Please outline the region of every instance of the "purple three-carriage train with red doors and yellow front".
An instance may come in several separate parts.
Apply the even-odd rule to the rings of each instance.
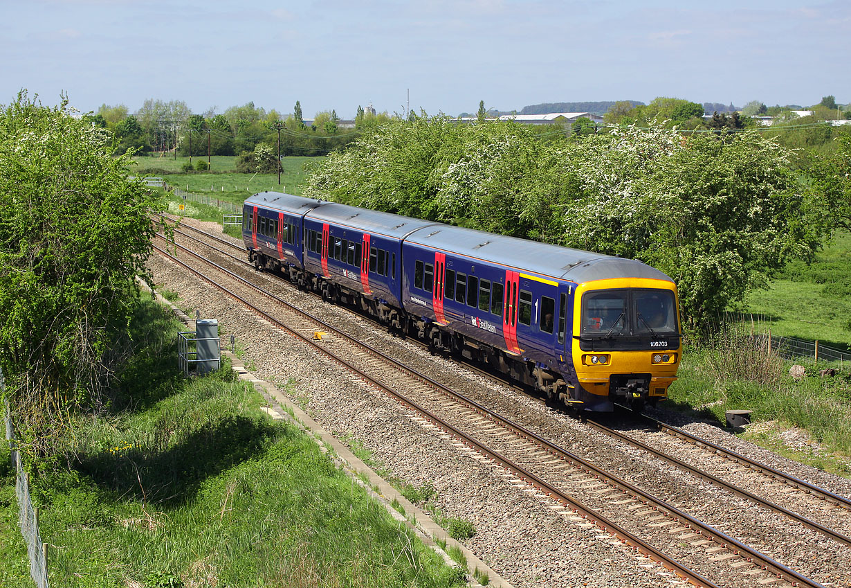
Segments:
[[[277,192],[245,200],[242,234],[257,270],[576,412],[677,379],[677,287],[643,262]]]

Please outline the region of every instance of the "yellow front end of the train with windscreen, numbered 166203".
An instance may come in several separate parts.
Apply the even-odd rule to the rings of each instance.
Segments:
[[[594,280],[576,288],[570,395],[577,407],[641,410],[667,398],[683,350],[677,287],[669,280]]]

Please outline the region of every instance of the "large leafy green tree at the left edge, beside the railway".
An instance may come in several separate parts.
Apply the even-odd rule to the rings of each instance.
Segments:
[[[0,367],[34,453],[100,402],[127,337],[162,202],[106,130],[22,91],[0,107]]]

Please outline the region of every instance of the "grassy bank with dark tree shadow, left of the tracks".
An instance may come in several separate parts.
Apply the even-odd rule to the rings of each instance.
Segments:
[[[230,370],[184,381],[163,308],[144,303],[134,325],[110,411],[79,418],[33,476],[52,585],[463,584]],[[0,585],[31,585],[8,447],[0,482]]]

